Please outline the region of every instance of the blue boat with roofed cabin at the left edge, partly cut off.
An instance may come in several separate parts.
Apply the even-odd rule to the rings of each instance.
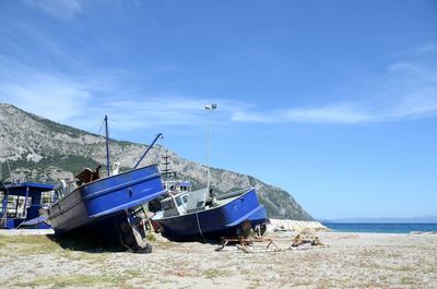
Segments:
[[[0,186],[0,228],[49,229],[39,215],[44,203],[49,204],[51,184],[22,182]],[[46,200],[44,200],[46,198]]]

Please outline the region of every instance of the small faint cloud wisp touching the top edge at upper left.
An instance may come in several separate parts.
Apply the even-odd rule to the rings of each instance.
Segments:
[[[51,16],[68,20],[74,19],[84,8],[84,2],[81,0],[22,0],[22,2]]]

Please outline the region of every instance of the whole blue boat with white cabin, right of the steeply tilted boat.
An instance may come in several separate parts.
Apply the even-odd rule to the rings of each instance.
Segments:
[[[177,192],[161,201],[162,210],[152,220],[163,227],[170,240],[209,239],[244,234],[269,221],[255,188],[213,196],[208,189]]]

